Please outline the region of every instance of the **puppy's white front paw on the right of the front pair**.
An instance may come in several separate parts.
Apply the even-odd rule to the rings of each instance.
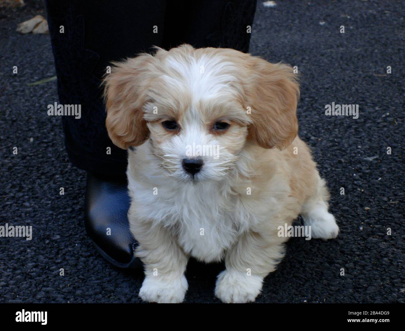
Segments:
[[[262,289],[263,278],[245,272],[224,270],[218,275],[215,296],[225,303],[254,301]]]

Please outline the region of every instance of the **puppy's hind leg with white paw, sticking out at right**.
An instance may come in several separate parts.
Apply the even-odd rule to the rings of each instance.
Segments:
[[[313,197],[304,204],[301,216],[304,224],[311,226],[311,237],[321,239],[336,238],[339,227],[335,217],[328,212],[328,191],[325,181],[318,176],[318,187]]]

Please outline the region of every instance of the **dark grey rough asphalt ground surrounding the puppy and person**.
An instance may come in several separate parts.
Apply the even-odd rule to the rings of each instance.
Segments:
[[[41,2],[26,2],[0,14],[0,225],[32,225],[33,238],[0,238],[0,303],[140,302],[142,271],[109,265],[84,231],[85,172],[68,161],[60,119],[47,116],[56,82],[27,86],[55,69],[49,35],[15,32],[45,15]],[[299,135],[328,182],[341,233],[291,239],[257,302],[405,302],[404,6],[258,2],[251,52],[298,66]],[[325,116],[332,102],[358,104],[358,119]],[[185,302],[220,302],[213,290],[222,269],[191,260]]]

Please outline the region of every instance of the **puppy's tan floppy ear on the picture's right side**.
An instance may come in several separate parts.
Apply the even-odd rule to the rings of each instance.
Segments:
[[[298,79],[290,66],[271,64],[258,57],[253,59],[252,69],[249,138],[263,148],[282,150],[298,133]]]

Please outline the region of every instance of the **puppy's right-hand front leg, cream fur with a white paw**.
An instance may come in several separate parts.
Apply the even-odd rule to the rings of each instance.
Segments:
[[[217,277],[215,296],[225,303],[254,301],[262,290],[264,277],[283,258],[284,238],[247,233],[228,251],[226,270]]]

